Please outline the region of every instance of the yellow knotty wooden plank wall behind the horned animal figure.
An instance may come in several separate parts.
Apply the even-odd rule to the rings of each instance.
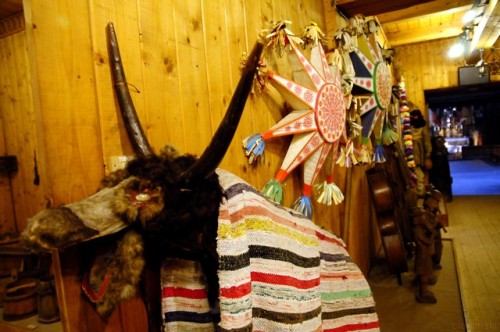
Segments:
[[[2,61],[7,75],[0,83],[15,89],[0,96],[0,152],[17,155],[21,165],[14,179],[17,215],[11,224],[22,230],[26,219],[46,205],[94,193],[113,158],[132,154],[112,90],[108,22],[115,25],[132,98],[153,148],[159,151],[169,143],[181,152],[201,154],[239,79],[241,56],[261,30],[287,19],[293,22],[290,29],[301,34],[314,21],[324,31],[328,25],[331,39],[343,22],[331,15],[331,6],[324,0],[25,0],[26,29],[0,40],[2,60],[10,58]],[[286,58],[266,56],[280,74],[290,75]],[[22,103],[12,103],[11,97]],[[272,88],[252,95],[221,167],[257,188],[274,177],[289,138],[269,142],[258,167],[248,165],[241,140],[268,129],[284,112],[284,101]],[[38,185],[33,183],[35,166]],[[300,194],[300,178],[296,171],[285,182],[284,205]],[[339,169],[337,184],[349,203],[315,205],[315,222],[343,236],[353,260],[367,272],[374,230],[364,167]],[[0,194],[8,193],[2,189]],[[144,308],[137,298],[121,305],[107,323],[84,301],[75,301],[79,254],[70,249],[55,257],[63,271],[58,295],[65,329],[140,330]]]

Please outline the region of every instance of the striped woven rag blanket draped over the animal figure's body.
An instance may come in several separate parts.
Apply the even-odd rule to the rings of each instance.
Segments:
[[[370,287],[345,244],[295,211],[218,170],[220,323],[196,262],[168,260],[162,306],[168,331],[378,331]]]

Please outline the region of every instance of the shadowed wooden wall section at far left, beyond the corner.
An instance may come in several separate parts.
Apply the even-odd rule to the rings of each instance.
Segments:
[[[42,183],[34,184],[35,166],[43,160],[39,151],[36,124],[31,94],[31,73],[27,55],[26,34],[24,31],[0,39],[1,75],[0,107],[2,117],[2,155],[15,155],[18,160],[18,171],[9,180],[1,176],[2,222],[8,232],[21,231],[26,226],[26,219],[44,207],[45,198]],[[35,165],[35,155],[37,164]],[[40,171],[40,170],[39,170]],[[40,174],[40,173],[39,173]],[[42,182],[46,182],[43,179]],[[11,188],[9,188],[11,186]],[[5,191],[4,191],[5,190]],[[11,198],[13,204],[10,204]],[[15,208],[14,208],[15,206]]]

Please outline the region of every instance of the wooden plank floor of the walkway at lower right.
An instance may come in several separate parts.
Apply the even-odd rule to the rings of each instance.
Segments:
[[[447,209],[467,331],[500,331],[500,196],[454,196]]]

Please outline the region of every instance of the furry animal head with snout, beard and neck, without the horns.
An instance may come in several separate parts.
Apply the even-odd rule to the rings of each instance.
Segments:
[[[96,194],[31,218],[23,241],[32,250],[63,249],[133,226],[140,234],[126,232],[116,249],[95,260],[84,283],[86,295],[100,314],[109,315],[118,301],[135,295],[130,288],[138,286],[143,253],[153,266],[160,266],[166,257],[198,260],[213,304],[218,293],[215,245],[223,193],[216,173],[180,186],[179,175],[196,160],[193,155],[179,156],[171,146],[158,156],[138,157],[106,177]],[[110,279],[102,291],[106,295],[99,295],[106,278]]]

